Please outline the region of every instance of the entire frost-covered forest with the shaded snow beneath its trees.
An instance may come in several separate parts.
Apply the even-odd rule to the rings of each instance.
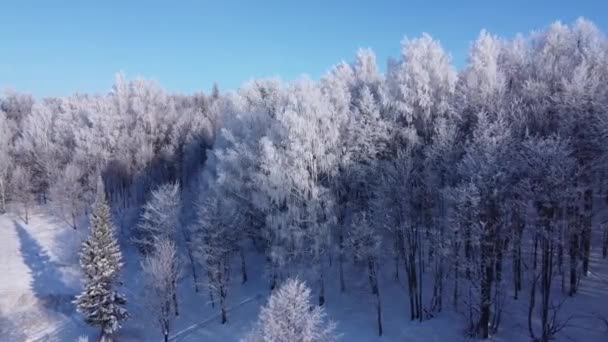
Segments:
[[[468,51],[457,70],[423,34],[385,73],[360,49],[234,92],[4,93],[0,228],[44,211],[74,236],[63,305],[91,328],[28,339],[1,300],[0,340],[607,340],[608,40],[579,19]],[[175,335],[203,310],[233,335]]]

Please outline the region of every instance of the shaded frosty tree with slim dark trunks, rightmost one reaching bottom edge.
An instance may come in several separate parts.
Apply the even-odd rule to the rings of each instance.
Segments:
[[[563,328],[558,317],[560,299],[552,294],[556,270],[561,270],[564,235],[561,222],[567,199],[571,196],[570,180],[575,160],[569,142],[559,137],[528,139],[523,143],[522,158],[529,168],[527,194],[534,203],[538,223],[532,233],[528,328],[530,337],[547,342]],[[560,271],[561,272],[561,271]],[[562,278],[563,279],[563,278]],[[563,284],[563,283],[562,283]],[[540,293],[536,302],[537,291]],[[538,307],[537,307],[538,306]],[[541,332],[534,332],[533,312],[538,309]],[[539,336],[540,335],[540,336]]]

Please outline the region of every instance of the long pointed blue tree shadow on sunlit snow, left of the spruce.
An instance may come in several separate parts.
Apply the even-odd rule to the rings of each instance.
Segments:
[[[31,288],[42,305],[63,314],[74,311],[73,291],[63,281],[61,265],[51,260],[49,254],[17,221],[13,221],[19,236],[23,262],[30,269]]]

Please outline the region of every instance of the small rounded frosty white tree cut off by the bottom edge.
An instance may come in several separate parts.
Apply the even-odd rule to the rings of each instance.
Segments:
[[[310,289],[298,279],[288,279],[262,307],[258,322],[244,342],[336,341],[335,325],[322,307],[311,302]]]

